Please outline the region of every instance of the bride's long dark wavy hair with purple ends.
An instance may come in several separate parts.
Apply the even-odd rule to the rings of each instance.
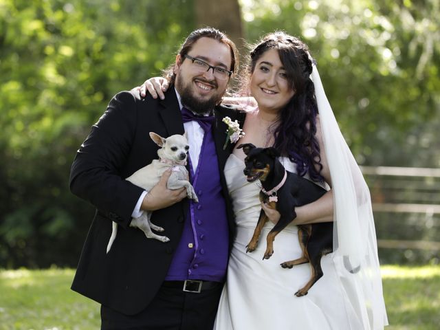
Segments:
[[[278,51],[289,87],[295,91],[276,122],[274,147],[296,163],[298,175],[303,176],[308,172],[314,181],[322,181],[320,148],[315,137],[318,106],[314,83],[309,78],[312,69],[309,49],[303,41],[285,32],[277,31],[263,36],[252,47],[248,58],[247,74],[241,85],[246,91],[257,61],[267,50]]]

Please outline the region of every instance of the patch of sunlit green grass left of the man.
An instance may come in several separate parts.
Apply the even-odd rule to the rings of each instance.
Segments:
[[[100,305],[73,292],[73,278],[74,270],[0,271],[0,329],[99,329]]]

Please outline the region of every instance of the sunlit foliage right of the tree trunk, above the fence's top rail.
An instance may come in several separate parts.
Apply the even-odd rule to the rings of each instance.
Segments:
[[[440,165],[438,1],[242,3],[249,41],[278,28],[309,45],[361,164]]]

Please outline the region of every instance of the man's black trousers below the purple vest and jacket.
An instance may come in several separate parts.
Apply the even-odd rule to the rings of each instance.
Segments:
[[[199,294],[162,285],[144,311],[124,315],[101,306],[102,330],[212,330],[223,284]]]

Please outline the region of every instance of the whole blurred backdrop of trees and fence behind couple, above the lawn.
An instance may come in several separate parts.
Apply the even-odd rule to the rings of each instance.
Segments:
[[[381,262],[437,264],[440,175],[375,169],[440,165],[439,15],[434,0],[0,0],[0,268],[76,267],[94,213],[68,190],[76,149],[203,25],[243,54],[274,30],[308,43],[375,205],[395,205],[375,210]]]

